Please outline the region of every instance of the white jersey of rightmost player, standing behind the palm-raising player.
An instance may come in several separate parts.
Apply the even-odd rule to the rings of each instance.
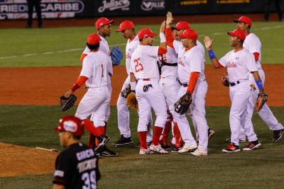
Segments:
[[[250,33],[249,35],[246,35],[246,40],[244,40],[243,46],[251,53],[259,53],[258,61],[256,61],[256,67],[261,69],[261,40],[259,40],[256,34]]]

